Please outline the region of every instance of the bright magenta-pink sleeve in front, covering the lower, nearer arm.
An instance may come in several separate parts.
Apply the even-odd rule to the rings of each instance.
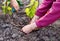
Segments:
[[[60,2],[54,2],[50,11],[36,21],[38,27],[45,27],[60,18]]]

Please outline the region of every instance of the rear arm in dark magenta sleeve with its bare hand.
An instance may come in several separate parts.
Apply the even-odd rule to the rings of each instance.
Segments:
[[[36,11],[36,15],[33,17],[31,23],[36,22],[36,20],[39,19],[39,17],[42,17],[45,15],[45,13],[49,10],[53,3],[53,0],[44,0],[43,3],[38,7]]]

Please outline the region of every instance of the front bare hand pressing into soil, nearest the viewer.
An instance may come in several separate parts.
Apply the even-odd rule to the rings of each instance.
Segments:
[[[32,32],[33,30],[35,30],[37,28],[35,23],[31,23],[29,25],[26,25],[22,28],[22,31],[26,34]]]

